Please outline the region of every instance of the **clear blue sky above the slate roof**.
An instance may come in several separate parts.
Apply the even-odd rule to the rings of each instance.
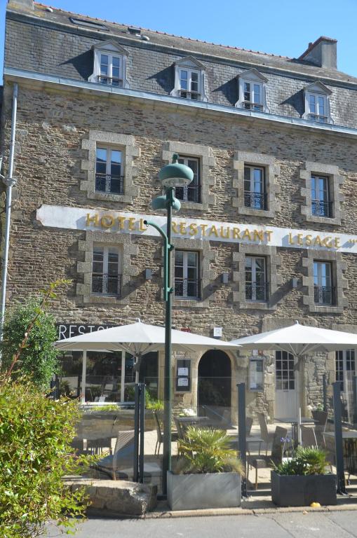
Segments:
[[[4,14],[0,0],[0,65]],[[357,0],[51,0],[74,13],[266,53],[298,57],[319,36],[338,40],[340,71],[357,76]],[[220,6],[217,10],[217,6]],[[245,6],[247,6],[245,8]]]

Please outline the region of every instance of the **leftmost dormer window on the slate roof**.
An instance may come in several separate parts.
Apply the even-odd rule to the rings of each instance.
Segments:
[[[117,88],[129,88],[126,78],[127,52],[114,41],[104,41],[93,46],[93,74],[88,81],[110,85]]]

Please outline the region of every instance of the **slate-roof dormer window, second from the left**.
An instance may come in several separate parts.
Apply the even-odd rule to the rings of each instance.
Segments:
[[[175,63],[175,88],[171,95],[194,101],[208,100],[205,93],[205,67],[201,62],[189,56]]]

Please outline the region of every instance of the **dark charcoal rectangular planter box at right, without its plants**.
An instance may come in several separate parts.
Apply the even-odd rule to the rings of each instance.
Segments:
[[[271,499],[278,506],[309,506],[319,502],[324,506],[337,504],[336,475],[279,475],[271,471]]]

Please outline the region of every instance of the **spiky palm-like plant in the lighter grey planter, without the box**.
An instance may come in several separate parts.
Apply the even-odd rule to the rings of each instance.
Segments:
[[[189,426],[183,439],[178,441],[181,459],[179,473],[223,473],[235,471],[243,474],[243,465],[236,450],[229,448],[230,439],[221,429]]]

